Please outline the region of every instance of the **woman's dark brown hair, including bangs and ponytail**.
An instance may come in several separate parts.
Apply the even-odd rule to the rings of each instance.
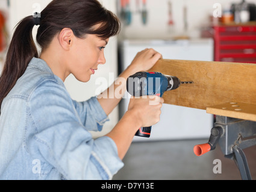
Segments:
[[[72,29],[78,38],[95,34],[107,39],[120,31],[119,19],[97,0],[54,0],[36,16],[40,16],[36,40],[42,51],[63,28]],[[38,58],[32,35],[33,27],[37,24],[34,17],[35,15],[22,19],[14,31],[0,77],[0,106],[17,79],[25,73],[31,59]],[[94,28],[97,24],[101,25]]]

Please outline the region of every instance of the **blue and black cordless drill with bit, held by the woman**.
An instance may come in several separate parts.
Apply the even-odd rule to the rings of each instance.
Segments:
[[[178,77],[167,76],[159,72],[142,71],[128,77],[126,89],[129,94],[135,97],[142,97],[143,95],[157,95],[163,97],[164,91],[177,89],[181,84],[190,83],[193,82],[181,82]],[[135,135],[150,137],[151,127],[141,127]]]

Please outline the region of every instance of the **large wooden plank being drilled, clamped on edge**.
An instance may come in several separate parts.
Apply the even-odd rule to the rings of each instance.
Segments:
[[[230,102],[256,104],[256,64],[160,59],[149,71],[194,82],[164,92],[164,103],[204,110]]]

